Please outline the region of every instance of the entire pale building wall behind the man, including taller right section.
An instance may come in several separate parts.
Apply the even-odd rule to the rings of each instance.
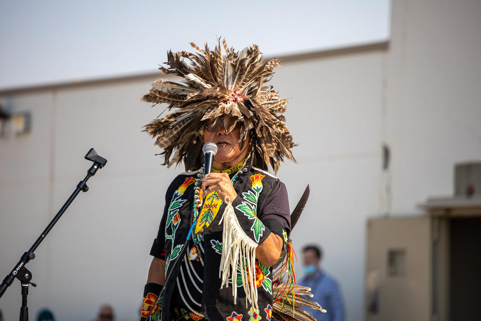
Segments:
[[[370,318],[368,218],[422,214],[417,204],[428,197],[452,195],[455,163],[481,159],[480,13],[479,1],[393,1],[388,41],[283,57],[276,71],[273,85],[292,98],[286,116],[299,143],[297,164],[284,164],[278,176],[291,206],[311,186],[294,245],[298,255],[307,242],[323,246],[348,321]],[[109,161],[29,263],[38,284],[30,290],[32,314],[47,306],[58,320],[91,320],[100,304],[111,303],[118,320],[135,320],[164,193],[182,171],[160,166],[158,148],[141,132],[161,112],[140,102],[158,77],[0,92],[7,111],[31,114],[31,130],[21,135],[2,121],[0,275],[83,178],[88,149]],[[383,144],[391,151],[385,170]],[[417,228],[429,230],[426,221],[419,218]],[[5,320],[17,317],[19,288],[16,281],[0,300]],[[416,320],[431,320],[429,301],[416,302],[428,309]],[[400,320],[394,308],[380,308],[385,317],[377,320]]]

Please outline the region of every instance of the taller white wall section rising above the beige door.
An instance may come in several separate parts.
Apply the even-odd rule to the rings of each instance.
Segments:
[[[454,164],[481,159],[481,1],[392,1],[385,141],[392,210],[452,195]]]

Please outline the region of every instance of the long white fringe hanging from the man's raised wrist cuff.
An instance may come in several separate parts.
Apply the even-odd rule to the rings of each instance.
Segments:
[[[245,291],[245,303],[248,301],[256,309],[257,306],[257,287],[256,287],[256,247],[257,243],[252,241],[240,227],[237,216],[229,201],[229,197],[225,197],[226,207],[219,224],[224,222],[224,231],[222,235],[222,257],[219,267],[219,277],[222,277],[221,289],[229,287],[229,277],[232,271],[232,295],[234,296],[234,304],[237,299],[237,266],[245,261],[251,274],[251,284],[247,280],[246,269],[240,269],[242,277],[242,286]]]

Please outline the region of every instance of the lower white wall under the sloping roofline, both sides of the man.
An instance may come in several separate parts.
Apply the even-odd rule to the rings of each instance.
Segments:
[[[292,238],[299,259],[305,243],[324,246],[324,266],[340,280],[348,320],[363,313],[363,226],[379,208],[384,56],[378,48],[286,59],[273,80],[283,97],[292,98],[288,126],[299,143],[293,150],[298,163],[278,173],[292,209],[305,185],[311,187]],[[108,160],[29,263],[38,284],[30,291],[31,314],[47,306],[59,320],[90,320],[100,304],[111,303],[118,320],[135,318],[164,193],[183,171],[160,166],[154,156],[160,150],[141,132],[164,108],[140,101],[155,78],[0,96],[15,112],[31,111],[33,121],[31,133],[0,140],[1,273],[10,271],[85,176],[89,148]],[[5,319],[15,318],[19,306],[16,281],[0,302]]]

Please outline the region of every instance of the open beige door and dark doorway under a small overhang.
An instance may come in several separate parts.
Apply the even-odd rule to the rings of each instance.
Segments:
[[[368,221],[367,320],[480,320],[481,197],[423,207]]]

